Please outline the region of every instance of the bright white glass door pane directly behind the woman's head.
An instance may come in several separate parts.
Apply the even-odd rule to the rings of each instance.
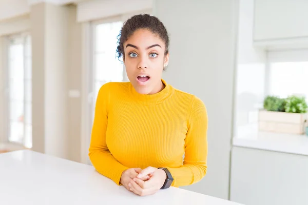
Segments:
[[[124,64],[115,52],[122,26],[122,21],[93,24],[92,119],[101,86],[110,81],[125,80]]]

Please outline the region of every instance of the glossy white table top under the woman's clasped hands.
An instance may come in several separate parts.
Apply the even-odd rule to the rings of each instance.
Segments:
[[[179,189],[140,197],[92,166],[30,150],[0,154],[0,204],[208,204],[238,203]]]

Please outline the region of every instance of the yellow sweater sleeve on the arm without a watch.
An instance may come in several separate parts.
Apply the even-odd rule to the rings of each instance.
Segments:
[[[122,172],[128,169],[123,166],[108,150],[106,130],[108,125],[108,104],[110,99],[109,84],[101,87],[95,104],[89,158],[94,168],[102,175],[120,185]]]

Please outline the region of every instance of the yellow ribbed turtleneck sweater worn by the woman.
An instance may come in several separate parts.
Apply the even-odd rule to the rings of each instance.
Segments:
[[[139,94],[130,82],[107,83],[99,91],[89,157],[118,185],[129,168],[166,167],[174,187],[205,176],[206,108],[196,96],[162,82],[165,88],[152,95]]]

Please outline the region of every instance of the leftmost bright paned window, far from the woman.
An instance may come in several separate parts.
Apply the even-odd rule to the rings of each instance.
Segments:
[[[8,141],[32,148],[31,37],[7,39]]]

